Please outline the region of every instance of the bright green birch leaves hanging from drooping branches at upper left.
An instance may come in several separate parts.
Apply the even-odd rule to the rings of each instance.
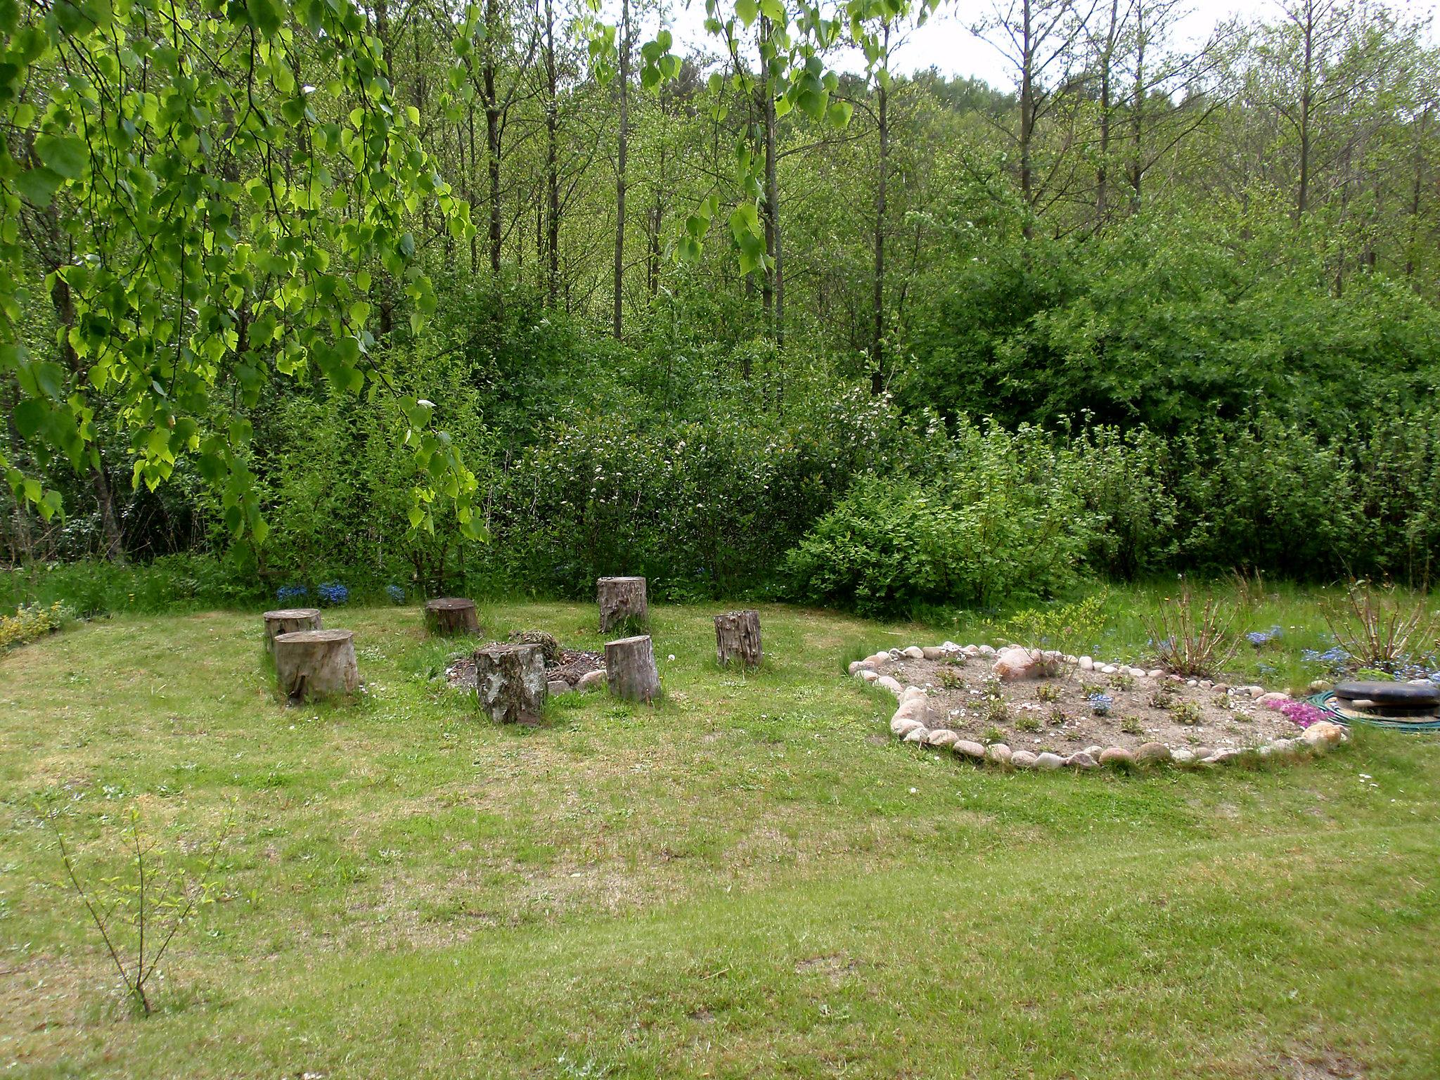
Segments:
[[[265,0],[27,4],[19,27],[16,4],[0,14],[13,32],[0,374],[19,387],[14,428],[36,462],[98,467],[104,402],[134,485],[154,490],[193,459],[226,528],[264,543],[245,409],[275,395],[275,376],[318,374],[396,397],[423,477],[413,524],[444,495],[472,530],[474,477],[431,409],[396,393],[370,327],[372,288],[402,292],[416,325],[433,310],[408,216],[425,204],[464,239],[468,209],[420,145],[418,109],[396,101],[364,13]],[[302,68],[320,85],[300,85]],[[22,220],[63,258],[37,268]],[[42,295],[55,347],[32,357],[22,320]],[[7,458],[0,469],[17,500],[46,518],[59,508],[58,491]]]

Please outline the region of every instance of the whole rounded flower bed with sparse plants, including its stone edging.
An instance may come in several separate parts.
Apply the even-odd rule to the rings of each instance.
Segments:
[[[1018,769],[1201,768],[1349,739],[1323,710],[1264,687],[1018,645],[912,645],[850,672],[896,696],[897,739]]]

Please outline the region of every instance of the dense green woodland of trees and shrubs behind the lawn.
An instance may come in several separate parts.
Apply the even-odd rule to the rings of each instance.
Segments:
[[[4,7],[12,53],[65,14]],[[171,89],[212,79],[269,108],[287,154],[256,166],[264,140],[206,138],[243,132],[223,108],[174,145],[240,187],[262,167],[292,199],[278,220],[343,219],[294,248],[336,256],[330,291],[287,302],[344,295],[341,321],[367,327],[359,395],[338,347],[330,364],[324,344],[292,363],[279,331],[264,348],[251,304],[269,271],[209,328],[184,275],[151,274],[151,343],[219,372],[179,428],[154,420],[179,361],[96,376],[89,336],[125,334],[78,314],[66,268],[98,243],[115,140],[86,134],[88,164],[63,153],[81,46],[52,33],[12,81],[3,239],[32,287],[7,315],[23,353],[6,356],[27,359],[0,364],[10,602],[575,596],[636,573],[661,599],[878,615],[1184,570],[1428,580],[1440,52],[1405,10],[1290,0],[1187,42],[1175,0],[945,9],[1007,60],[1014,82],[991,86],[891,72],[929,29],[894,0],[834,22],[711,3],[691,40],[642,0],[605,20],[564,0],[380,0],[353,9],[348,60],[305,7],[281,75],[209,6],[186,26],[226,48],[166,69]],[[115,85],[158,82],[168,10],[127,6],[86,85],[109,55]],[[327,122],[346,127],[356,50],[409,140],[374,177],[441,193],[372,184],[405,256],[373,272],[346,258],[354,202],[295,194]],[[53,449],[66,408],[84,454]],[[406,452],[432,428],[442,442]]]

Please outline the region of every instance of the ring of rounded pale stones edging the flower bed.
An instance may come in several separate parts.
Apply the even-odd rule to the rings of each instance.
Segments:
[[[1022,647],[1009,647],[1022,648]],[[1136,668],[1129,664],[1097,662],[1090,657],[1071,657],[1064,652],[1025,649],[1037,665],[1064,664],[1080,671],[1097,671],[1100,674],[1123,672],[1132,678],[1171,680],[1187,685],[1207,685],[1210,680],[1184,678],[1171,674],[1164,668]],[[949,729],[929,730],[924,726],[930,708],[930,696],[923,687],[903,687],[891,675],[881,675],[876,671],[877,664],[893,660],[943,660],[946,657],[998,657],[999,649],[992,645],[956,645],[946,641],[942,645],[907,645],[887,652],[876,652],[864,660],[850,664],[850,674],[870,685],[888,690],[899,700],[899,708],[890,717],[890,733],[906,743],[924,746],[936,750],[950,750],[958,757],[968,757],[976,765],[994,765],[1012,769],[1054,770],[1070,768],[1076,770],[1099,769],[1102,766],[1126,768],[1132,765],[1161,765],[1169,763],[1182,769],[1197,769],[1212,765],[1225,765],[1236,760],[1259,760],[1264,757],[1296,757],[1300,753],[1325,753],[1333,746],[1349,742],[1349,732],[1341,724],[1329,720],[1318,720],[1302,729],[1293,739],[1272,739],[1256,747],[1234,749],[1224,747],[1207,757],[1197,757],[1187,749],[1171,749],[1165,743],[1143,743],[1135,750],[1123,746],[1087,746],[1084,750],[1061,757],[1057,753],[1031,753],[1030,750],[1011,750],[1005,743],[978,743],[960,739]],[[1260,685],[1233,687],[1231,693],[1246,693],[1260,704],[1289,701],[1290,696],[1283,691],[1266,691]]]

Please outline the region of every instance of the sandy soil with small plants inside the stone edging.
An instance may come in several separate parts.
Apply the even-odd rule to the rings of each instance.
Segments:
[[[893,658],[876,665],[900,685],[930,697],[926,727],[960,739],[1002,742],[1012,750],[1048,749],[1060,755],[1086,746],[1135,750],[1156,742],[1171,747],[1247,747],[1300,734],[1283,713],[1264,708],[1227,684],[1187,685],[1169,678],[1133,678],[1081,671],[1063,664],[1051,678],[999,683],[986,657]],[[1092,694],[1110,698],[1096,713]]]

